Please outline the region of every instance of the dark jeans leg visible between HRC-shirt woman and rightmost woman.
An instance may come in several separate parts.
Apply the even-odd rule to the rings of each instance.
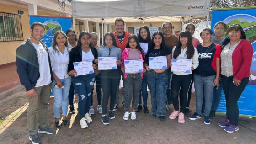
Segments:
[[[222,81],[219,81],[219,85],[214,86],[213,88],[213,102],[212,102],[211,111],[216,112],[219,105],[219,101],[220,101],[221,91],[222,91]]]

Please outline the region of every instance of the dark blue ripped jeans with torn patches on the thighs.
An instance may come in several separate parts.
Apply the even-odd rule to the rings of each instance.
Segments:
[[[78,112],[80,119],[85,117],[85,114],[89,112],[94,81],[94,74],[79,75],[77,77],[72,76],[72,83],[79,97]]]

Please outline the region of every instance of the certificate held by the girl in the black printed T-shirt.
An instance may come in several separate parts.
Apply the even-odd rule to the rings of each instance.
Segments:
[[[150,69],[167,69],[167,57],[149,57]]]

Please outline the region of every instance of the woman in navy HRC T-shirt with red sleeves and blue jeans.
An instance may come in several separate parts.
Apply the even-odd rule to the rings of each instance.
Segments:
[[[211,42],[213,32],[205,28],[200,33],[203,43],[197,46],[199,66],[194,70],[196,90],[196,112],[189,117],[196,120],[202,117],[203,99],[205,100],[204,123],[210,124],[209,114],[213,100],[213,87],[219,84],[220,76],[220,45]],[[203,98],[204,95],[204,98]]]

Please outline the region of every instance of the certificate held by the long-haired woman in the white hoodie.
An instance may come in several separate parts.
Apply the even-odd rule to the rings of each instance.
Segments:
[[[192,74],[191,59],[171,59],[171,71]]]

